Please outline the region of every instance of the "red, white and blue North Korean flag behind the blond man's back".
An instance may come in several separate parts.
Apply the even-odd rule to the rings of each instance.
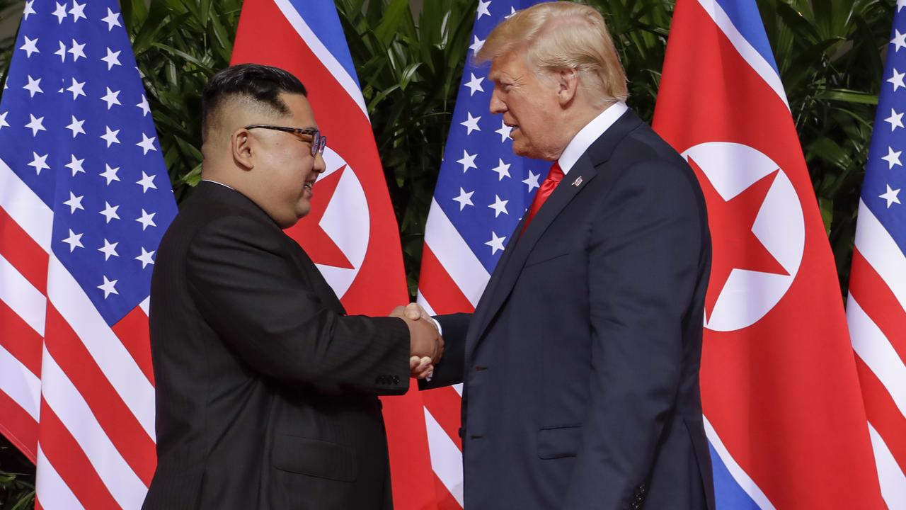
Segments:
[[[655,129],[713,237],[701,394],[718,509],[884,508],[834,259],[755,0],[678,0]]]

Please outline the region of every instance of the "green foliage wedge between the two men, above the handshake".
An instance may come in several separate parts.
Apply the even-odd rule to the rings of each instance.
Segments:
[[[477,0],[337,0],[381,154],[410,294]]]

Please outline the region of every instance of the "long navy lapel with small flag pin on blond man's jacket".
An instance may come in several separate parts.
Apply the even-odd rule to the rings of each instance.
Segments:
[[[506,299],[516,285],[516,280],[522,273],[525,260],[535,248],[535,244],[544,235],[557,216],[569,205],[571,201],[583,191],[590,181],[597,175],[597,167],[602,165],[613,152],[616,145],[622,141],[628,132],[638,127],[641,119],[628,110],[623,113],[616,123],[604,132],[601,137],[593,142],[592,146],[583,153],[582,157],[573,165],[564,180],[556,187],[551,196],[547,198],[544,206],[535,215],[535,218],[525,229],[525,234],[519,238],[519,232],[525,223],[525,217],[516,226],[513,232],[514,239],[506,247],[504,256],[497,264],[491,280],[478,303],[472,327],[467,335],[467,352],[474,351],[484,336],[488,325],[503,307]]]

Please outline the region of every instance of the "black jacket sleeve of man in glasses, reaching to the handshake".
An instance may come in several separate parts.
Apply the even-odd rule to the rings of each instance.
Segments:
[[[323,305],[261,226],[226,217],[188,250],[188,289],[201,315],[250,368],[288,384],[379,395],[409,387],[402,319],[342,316]]]

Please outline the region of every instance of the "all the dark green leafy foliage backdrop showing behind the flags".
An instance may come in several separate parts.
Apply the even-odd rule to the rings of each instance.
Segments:
[[[578,0],[605,15],[651,121],[671,0]],[[335,0],[358,69],[403,242],[410,293],[477,0]],[[845,291],[893,0],[757,0]],[[198,181],[199,96],[229,62],[241,0],[120,0],[178,200]],[[0,0],[0,16],[22,2]],[[5,69],[14,40],[0,40]],[[0,510],[34,505],[34,469],[0,444]]]

